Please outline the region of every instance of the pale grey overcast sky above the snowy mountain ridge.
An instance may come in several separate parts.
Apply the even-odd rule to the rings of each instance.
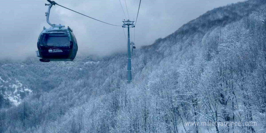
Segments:
[[[120,0],[128,18],[125,0]],[[242,0],[142,0],[135,27],[135,44],[139,48],[150,45],[160,37],[176,31],[180,26],[208,10]],[[122,25],[125,15],[119,0],[56,0],[60,5],[90,17],[115,25]],[[0,4],[0,59],[25,59],[35,56],[37,38],[46,23],[46,0],[7,0]],[[139,0],[126,0],[131,20],[136,19]],[[115,27],[86,18],[59,6],[53,6],[50,22],[73,29],[78,55],[106,56],[126,52],[127,40],[122,27]],[[127,35],[127,29],[125,28]],[[134,29],[131,28],[134,39]]]

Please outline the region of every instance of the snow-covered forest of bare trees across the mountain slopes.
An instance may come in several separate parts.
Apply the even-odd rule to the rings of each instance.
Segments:
[[[265,0],[215,8],[135,50],[130,84],[126,57],[1,60],[0,133],[266,133]]]

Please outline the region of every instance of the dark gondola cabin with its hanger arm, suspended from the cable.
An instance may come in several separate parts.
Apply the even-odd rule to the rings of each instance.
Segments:
[[[41,62],[73,61],[78,51],[76,37],[71,28],[50,23],[50,8],[56,3],[47,1],[50,2],[50,4],[45,4],[49,6],[48,12],[46,12],[47,23],[52,27],[44,27],[41,32],[37,41],[36,55],[41,58]]]

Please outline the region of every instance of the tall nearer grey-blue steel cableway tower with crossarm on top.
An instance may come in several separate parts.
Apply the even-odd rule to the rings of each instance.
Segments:
[[[130,31],[129,28],[133,28],[135,27],[135,25],[133,24],[134,21],[130,21],[129,19],[127,21],[122,21],[124,24],[122,25],[123,28],[128,28],[128,57],[127,57],[127,61],[128,61],[128,69],[127,69],[127,83],[131,83],[132,82],[132,71],[131,71],[131,54],[130,54]]]

